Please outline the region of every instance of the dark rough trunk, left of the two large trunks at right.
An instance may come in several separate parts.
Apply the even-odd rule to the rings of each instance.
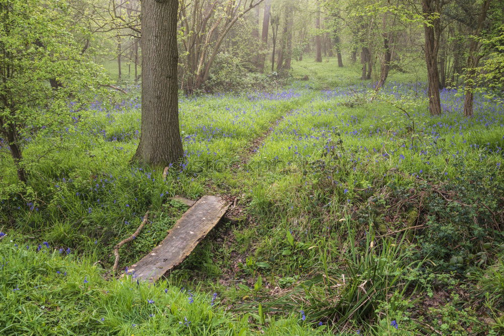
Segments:
[[[424,18],[427,19],[437,13],[435,0],[421,0]],[[427,64],[427,81],[429,96],[429,112],[432,115],[441,115],[441,100],[439,97],[439,70],[437,69],[437,52],[439,50],[439,19],[432,20],[431,24],[424,24],[425,30],[425,62]]]

